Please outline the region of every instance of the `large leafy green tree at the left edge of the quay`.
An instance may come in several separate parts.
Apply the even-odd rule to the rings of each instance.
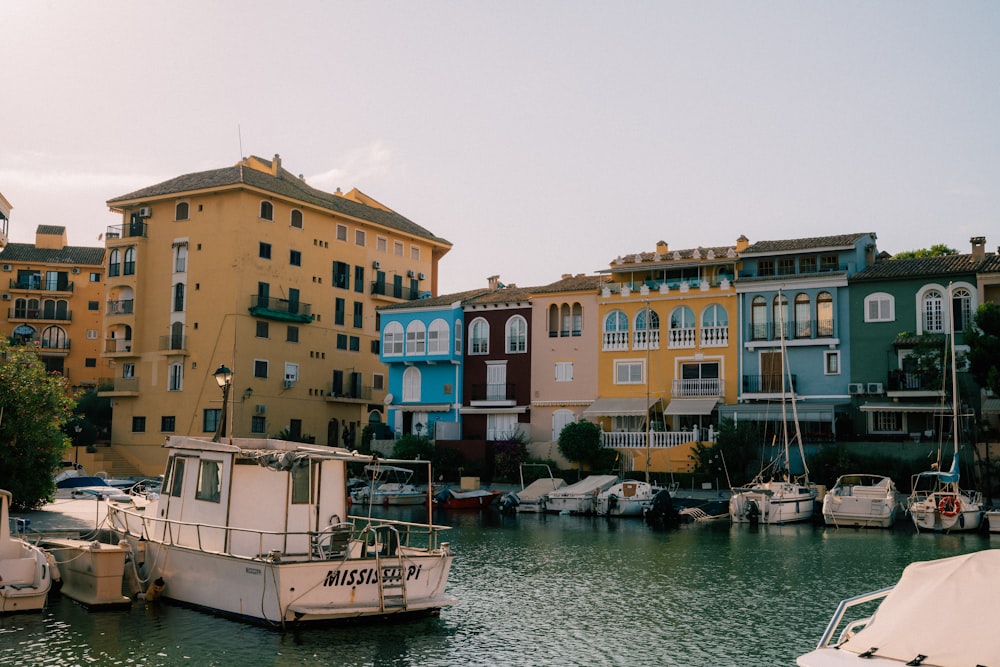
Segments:
[[[62,375],[46,372],[33,349],[0,339],[0,489],[13,494],[17,509],[52,498],[72,408]]]

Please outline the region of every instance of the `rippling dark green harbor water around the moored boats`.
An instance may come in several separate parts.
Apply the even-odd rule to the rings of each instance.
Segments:
[[[458,598],[439,616],[280,631],[162,601],[88,611],[63,596],[0,617],[0,665],[791,666],[840,600],[895,583],[910,562],[992,546],[907,528],[659,531],[492,511],[436,521],[453,526]]]

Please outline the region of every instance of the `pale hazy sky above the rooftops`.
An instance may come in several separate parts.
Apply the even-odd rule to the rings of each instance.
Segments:
[[[12,242],[271,158],[453,244],[440,293],[875,232],[1000,245],[1000,3],[3,0]]]

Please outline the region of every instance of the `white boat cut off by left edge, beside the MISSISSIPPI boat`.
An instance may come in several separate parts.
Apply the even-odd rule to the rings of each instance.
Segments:
[[[0,489],[0,614],[44,608],[53,578],[45,552],[11,534],[12,498]]]

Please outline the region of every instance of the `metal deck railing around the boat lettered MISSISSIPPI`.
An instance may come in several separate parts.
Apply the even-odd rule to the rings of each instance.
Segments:
[[[450,529],[450,526],[357,516],[349,516],[346,522],[335,521],[315,531],[272,531],[192,523],[149,517],[118,507],[109,507],[108,516],[116,529],[149,542],[275,562],[363,557],[369,551],[364,541],[379,530],[390,529],[398,534],[396,541],[401,547],[435,550],[440,546],[439,533]]]

